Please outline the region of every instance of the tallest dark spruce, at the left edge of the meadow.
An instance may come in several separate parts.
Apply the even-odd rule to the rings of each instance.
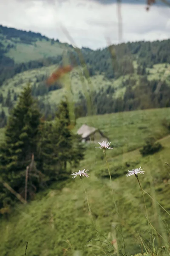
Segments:
[[[32,154],[37,158],[40,112],[31,96],[31,87],[24,88],[17,105],[11,112],[5,132],[5,143],[0,145],[0,177],[16,192],[25,186],[26,166]],[[13,200],[6,189],[0,187],[0,203],[6,198]]]

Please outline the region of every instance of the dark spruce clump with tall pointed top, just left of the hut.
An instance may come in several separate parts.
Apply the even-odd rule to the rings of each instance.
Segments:
[[[81,138],[72,134],[69,124],[67,103],[61,102],[54,122],[43,125],[40,142],[42,169],[49,181],[67,177],[68,164],[70,168],[77,166],[84,157]]]

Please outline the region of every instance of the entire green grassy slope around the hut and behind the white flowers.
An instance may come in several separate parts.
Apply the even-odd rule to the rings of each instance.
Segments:
[[[125,177],[129,169],[144,168],[145,175],[139,175],[142,188],[170,211],[170,170],[165,164],[170,162],[170,136],[161,125],[164,117],[170,117],[170,108],[89,116],[78,119],[74,130],[83,123],[100,128],[114,148],[107,151],[107,156],[119,219],[113,204],[105,159],[102,150],[94,148],[96,144],[87,145],[85,159],[77,170],[89,169],[90,177],[84,179],[84,186],[101,240],[109,244],[122,240],[116,230],[120,221],[127,247],[125,255],[141,252],[141,237],[148,236],[139,184],[134,176]],[[161,140],[163,149],[142,157],[139,147],[150,135],[155,135],[157,139],[166,136]],[[145,200],[151,223],[164,237],[161,223],[163,220],[165,224],[170,224],[170,216],[163,209],[158,209],[149,196],[145,195]],[[96,249],[101,247],[97,241],[87,244],[97,237],[78,177],[53,184],[50,189],[38,193],[35,200],[26,206],[18,204],[9,220],[1,219],[0,230],[3,234],[0,236],[1,256],[24,255],[26,241],[28,256],[92,256],[99,255]],[[159,245],[164,246],[165,243]],[[109,255],[115,252],[112,247],[105,245],[105,250],[109,249]]]

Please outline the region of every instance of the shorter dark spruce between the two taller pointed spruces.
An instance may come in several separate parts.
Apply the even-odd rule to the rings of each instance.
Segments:
[[[68,161],[68,148],[71,144],[69,140],[65,143],[62,125],[59,119],[54,123],[46,122],[43,125],[42,139],[40,143],[43,174],[48,181],[62,179],[66,174],[66,164]],[[65,126],[66,128],[66,126]],[[69,131],[66,128],[67,131]]]

